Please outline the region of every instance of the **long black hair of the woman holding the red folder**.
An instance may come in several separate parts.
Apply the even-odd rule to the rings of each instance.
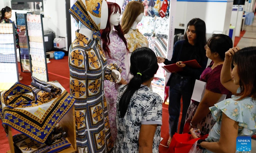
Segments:
[[[196,29],[196,41],[195,41],[195,46],[196,46],[196,59],[197,62],[200,63],[202,57],[205,56],[205,50],[204,50],[204,45],[206,44],[206,26],[205,22],[200,19],[200,18],[193,18],[188,22],[188,25],[194,25]],[[187,29],[188,29],[187,25]],[[186,29],[186,30],[187,30]],[[184,34],[185,40],[188,41],[187,33]]]

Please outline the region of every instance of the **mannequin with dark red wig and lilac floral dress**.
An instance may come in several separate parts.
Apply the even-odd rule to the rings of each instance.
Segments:
[[[122,69],[122,80],[119,84],[104,81],[105,98],[108,103],[108,117],[111,129],[113,142],[116,140],[116,98],[118,88],[121,84],[126,84],[126,68],[125,55],[128,54],[128,47],[124,32],[119,23],[121,9],[118,4],[108,2],[108,21],[105,29],[100,30],[101,33],[101,47],[106,53],[106,58],[109,63],[117,63],[118,67]],[[115,30],[113,30],[115,29]]]

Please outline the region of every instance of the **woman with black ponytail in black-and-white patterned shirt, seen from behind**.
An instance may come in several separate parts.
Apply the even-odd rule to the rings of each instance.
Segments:
[[[131,55],[127,85],[121,85],[116,100],[117,137],[114,152],[158,152],[162,125],[162,98],[149,86],[158,69],[155,53],[142,47]]]

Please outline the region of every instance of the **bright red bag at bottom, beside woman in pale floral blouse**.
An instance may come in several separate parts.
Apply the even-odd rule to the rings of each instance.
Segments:
[[[208,135],[204,135],[201,138],[191,139],[190,134],[178,134],[175,133],[172,137],[172,142],[169,146],[168,153],[188,153],[193,144],[199,139],[205,139]]]

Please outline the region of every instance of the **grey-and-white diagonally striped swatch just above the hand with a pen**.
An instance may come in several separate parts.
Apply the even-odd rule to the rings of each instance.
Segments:
[[[155,51],[158,56],[166,58],[167,42],[167,38],[156,38]]]

